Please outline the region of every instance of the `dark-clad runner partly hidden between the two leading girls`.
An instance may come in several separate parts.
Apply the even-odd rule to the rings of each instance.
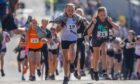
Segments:
[[[76,58],[75,58],[75,67],[76,70],[74,72],[74,76],[78,79],[81,78],[81,76],[85,76],[84,72],[84,64],[85,64],[85,36],[84,32],[86,29],[86,26],[88,25],[88,21],[84,17],[84,10],[81,8],[76,9],[76,13],[79,14],[83,20],[80,23],[80,27],[77,31],[78,33],[78,40],[77,40],[77,51],[76,51]]]

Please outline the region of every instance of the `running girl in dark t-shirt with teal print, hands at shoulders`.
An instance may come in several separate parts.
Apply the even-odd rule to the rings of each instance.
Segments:
[[[93,68],[91,68],[91,78],[99,80],[98,76],[98,61],[100,56],[102,56],[102,69],[103,73],[106,73],[106,41],[108,40],[108,32],[110,28],[119,27],[111,20],[107,15],[107,9],[105,7],[99,7],[97,10],[97,16],[93,17],[91,22],[91,27],[88,30],[89,35],[92,33],[92,44],[93,44]]]

